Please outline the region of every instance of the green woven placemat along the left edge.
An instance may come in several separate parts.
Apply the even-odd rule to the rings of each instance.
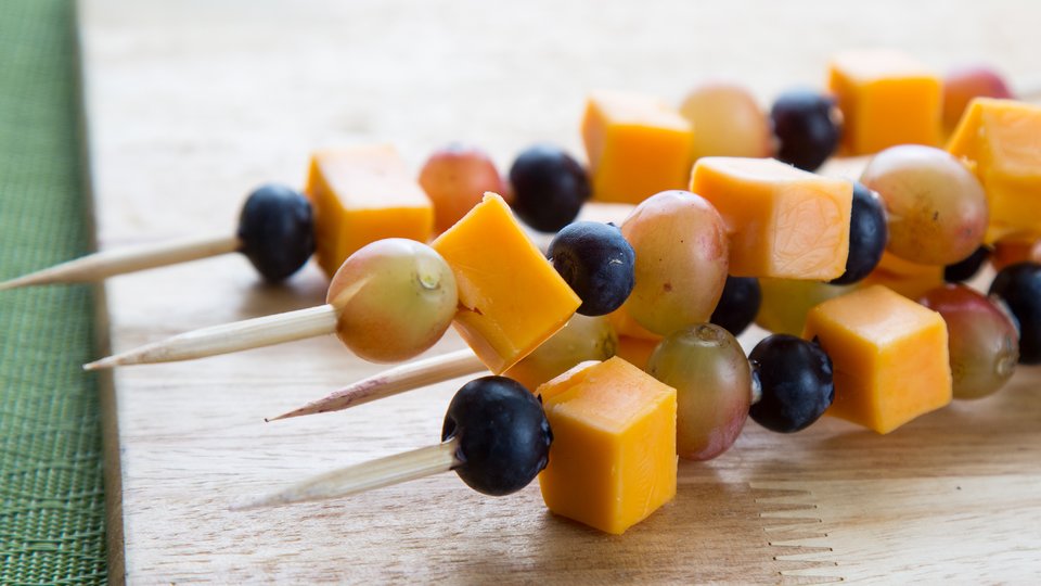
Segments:
[[[72,0],[0,2],[0,279],[86,253]],[[0,292],[0,584],[105,581],[92,298]]]

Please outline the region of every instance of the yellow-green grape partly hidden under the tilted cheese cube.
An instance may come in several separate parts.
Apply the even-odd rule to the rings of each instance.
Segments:
[[[532,393],[542,383],[586,360],[606,360],[615,355],[618,336],[606,316],[575,314],[561,331],[503,372]]]

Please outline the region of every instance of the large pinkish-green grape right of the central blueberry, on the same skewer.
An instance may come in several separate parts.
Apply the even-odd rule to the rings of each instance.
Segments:
[[[632,211],[621,235],[637,253],[637,283],[622,306],[629,316],[659,335],[708,321],[730,267],[727,229],[710,203],[663,191]]]

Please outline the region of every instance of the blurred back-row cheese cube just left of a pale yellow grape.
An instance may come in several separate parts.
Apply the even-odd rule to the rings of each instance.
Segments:
[[[665,102],[632,93],[594,93],[586,105],[582,139],[594,200],[635,204],[686,184],[691,125]]]

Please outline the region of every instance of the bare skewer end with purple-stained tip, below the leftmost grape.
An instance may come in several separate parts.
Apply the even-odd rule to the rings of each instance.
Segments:
[[[308,403],[299,409],[265,419],[265,421],[340,411],[370,400],[389,397],[458,377],[474,374],[486,369],[487,367],[477,358],[474,351],[470,348],[455,351],[384,370],[378,374],[362,379],[318,400]]]

